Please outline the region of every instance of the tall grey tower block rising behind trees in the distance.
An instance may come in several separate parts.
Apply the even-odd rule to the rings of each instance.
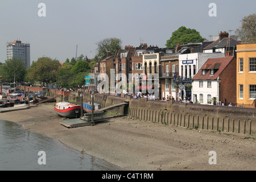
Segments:
[[[30,68],[30,44],[22,43],[20,40],[6,43],[6,55],[7,59],[12,59],[13,57],[22,59],[26,67]]]

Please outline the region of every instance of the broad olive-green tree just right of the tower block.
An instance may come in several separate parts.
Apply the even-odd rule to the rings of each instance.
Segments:
[[[57,80],[57,71],[60,67],[60,62],[56,59],[52,60],[50,57],[39,57],[38,60],[31,64],[28,78],[34,81],[42,81],[48,83]]]

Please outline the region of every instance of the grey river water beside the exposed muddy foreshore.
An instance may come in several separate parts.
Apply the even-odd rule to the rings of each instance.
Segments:
[[[39,151],[44,151],[40,153]],[[0,120],[0,171],[114,171],[118,166],[58,140]]]

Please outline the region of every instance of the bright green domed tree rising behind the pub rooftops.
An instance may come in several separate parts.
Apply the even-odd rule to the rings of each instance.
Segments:
[[[175,47],[177,43],[199,43],[203,42],[205,38],[202,38],[200,33],[195,29],[186,28],[181,26],[178,30],[172,32],[172,36],[166,42],[166,47]]]

